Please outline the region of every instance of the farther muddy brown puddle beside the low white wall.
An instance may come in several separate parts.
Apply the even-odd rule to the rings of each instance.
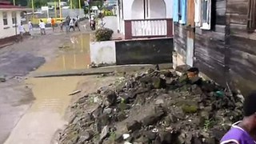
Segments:
[[[81,70],[90,65],[90,34],[73,36],[63,42],[61,54],[51,62],[41,66],[37,72]]]

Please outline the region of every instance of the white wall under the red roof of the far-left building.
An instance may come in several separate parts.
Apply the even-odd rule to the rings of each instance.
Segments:
[[[15,26],[13,25],[13,22],[12,22],[12,15],[11,15],[12,11],[11,10],[5,10],[5,11],[7,11],[8,25],[3,26],[2,10],[0,10],[0,38],[7,38],[7,37],[14,36],[16,34]],[[21,22],[20,14],[21,14],[21,11],[16,12],[17,24]],[[17,29],[17,34],[19,34],[18,29]]]

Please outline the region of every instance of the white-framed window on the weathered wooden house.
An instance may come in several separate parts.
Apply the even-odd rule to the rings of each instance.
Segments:
[[[195,0],[194,22],[201,29],[210,30],[211,23],[211,0]]]

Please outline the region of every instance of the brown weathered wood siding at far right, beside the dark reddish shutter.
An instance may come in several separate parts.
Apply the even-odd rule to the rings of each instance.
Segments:
[[[256,90],[256,33],[250,34],[246,30],[248,7],[248,0],[226,2],[226,23],[229,27],[226,57],[230,82],[242,94]]]

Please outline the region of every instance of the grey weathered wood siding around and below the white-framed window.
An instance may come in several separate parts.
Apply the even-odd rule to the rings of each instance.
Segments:
[[[211,27],[211,30],[196,27],[194,66],[215,82],[225,86],[226,0],[212,1]]]

